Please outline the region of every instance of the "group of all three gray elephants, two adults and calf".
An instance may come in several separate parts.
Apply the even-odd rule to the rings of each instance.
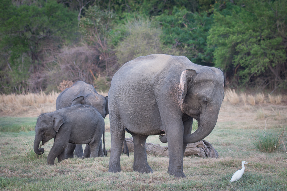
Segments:
[[[106,156],[104,118],[110,116],[109,172],[119,172],[125,131],[134,142],[134,171],[152,173],[145,142],[160,135],[168,143],[168,172],[185,177],[183,154],[188,143],[213,130],[224,98],[223,72],[194,64],[183,56],[153,54],[125,63],[114,75],[109,94],[78,81],[56,100],[56,111],[41,114],[35,126],[34,151],[54,138],[48,164],[73,157]],[[198,129],[191,133],[193,118]],[[164,134],[164,135],[162,135]],[[102,142],[103,136],[103,142]],[[83,152],[82,144],[86,144]],[[104,148],[102,148],[102,145]]]

